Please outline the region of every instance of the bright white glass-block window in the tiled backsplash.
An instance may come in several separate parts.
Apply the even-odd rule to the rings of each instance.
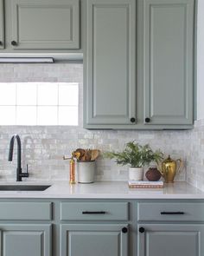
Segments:
[[[0,125],[78,125],[79,83],[0,82]]]

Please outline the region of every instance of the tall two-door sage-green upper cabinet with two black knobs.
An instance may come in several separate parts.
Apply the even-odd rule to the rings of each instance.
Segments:
[[[194,0],[87,0],[84,127],[193,128],[194,27]]]

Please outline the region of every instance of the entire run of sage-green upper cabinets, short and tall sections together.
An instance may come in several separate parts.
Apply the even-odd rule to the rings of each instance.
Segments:
[[[0,56],[83,53],[84,128],[193,128],[195,3],[0,0]]]

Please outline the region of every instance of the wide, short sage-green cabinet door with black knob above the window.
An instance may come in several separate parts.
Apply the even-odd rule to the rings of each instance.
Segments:
[[[13,0],[13,49],[79,49],[80,0]]]

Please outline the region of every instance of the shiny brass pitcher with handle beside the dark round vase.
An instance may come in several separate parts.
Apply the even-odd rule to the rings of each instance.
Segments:
[[[179,173],[182,166],[183,163],[181,159],[173,160],[169,155],[169,157],[158,166],[158,169],[162,174],[164,181],[167,183],[172,183],[174,182],[175,174]]]

